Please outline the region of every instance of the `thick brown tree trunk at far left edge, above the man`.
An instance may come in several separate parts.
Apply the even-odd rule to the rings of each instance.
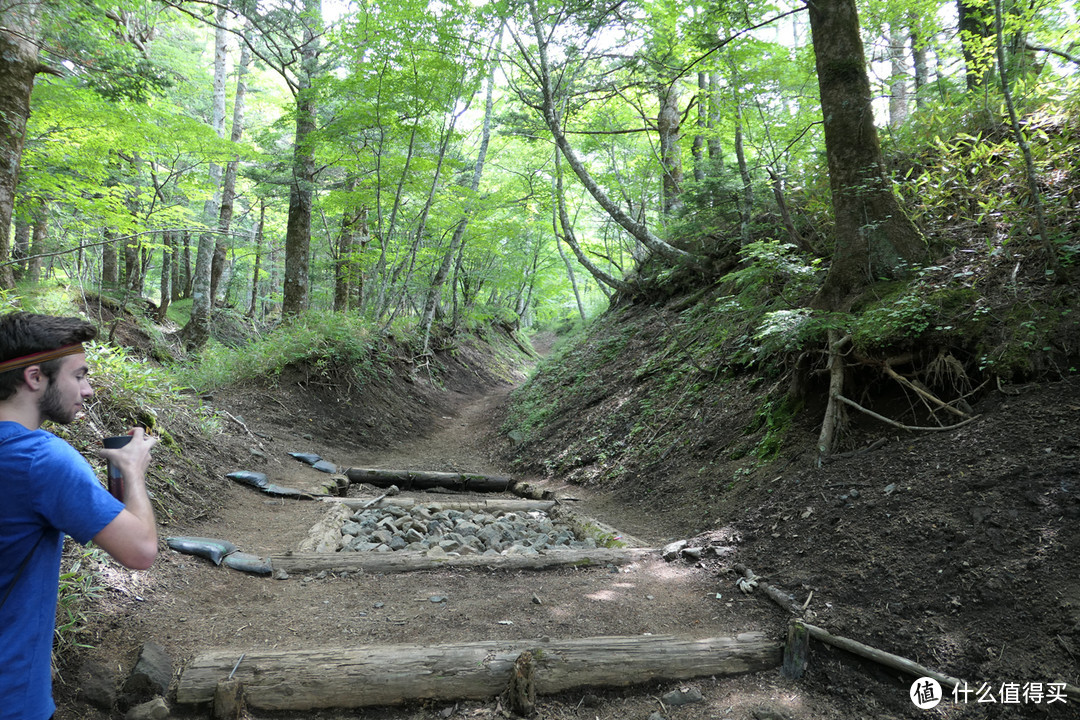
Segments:
[[[0,11],[0,289],[15,286],[11,258],[11,218],[15,188],[30,117],[33,76],[43,68],[38,63],[41,3],[16,2]]]

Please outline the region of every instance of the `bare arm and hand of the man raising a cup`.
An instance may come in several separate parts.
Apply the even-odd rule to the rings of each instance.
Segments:
[[[123,475],[124,510],[94,535],[94,544],[125,568],[146,570],[158,557],[158,525],[146,491],[150,448],[158,444],[158,438],[146,435],[141,427],[130,434],[132,439],[124,447],[97,450]]]

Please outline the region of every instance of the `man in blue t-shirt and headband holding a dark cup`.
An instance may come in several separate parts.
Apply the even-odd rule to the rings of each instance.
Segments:
[[[41,430],[67,424],[94,394],[78,317],[0,316],[0,720],[46,720],[64,535],[94,541],[121,565],[146,570],[158,529],[146,491],[157,439],[136,427],[120,449],[97,450],[124,479],[123,502],[70,445]]]

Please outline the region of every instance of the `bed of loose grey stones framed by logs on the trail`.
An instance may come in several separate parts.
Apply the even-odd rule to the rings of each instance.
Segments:
[[[486,513],[416,505],[362,510],[341,526],[341,552],[410,551],[450,555],[539,555],[548,551],[596,547],[579,540],[568,525],[540,511]]]

